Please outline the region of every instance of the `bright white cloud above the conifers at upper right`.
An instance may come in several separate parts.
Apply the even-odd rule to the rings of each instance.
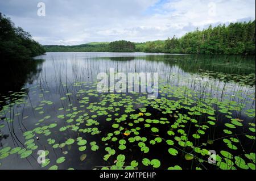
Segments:
[[[173,10],[174,22],[180,20],[199,27],[210,23],[234,22],[247,17],[255,18],[254,0],[180,0],[166,3],[163,8]]]

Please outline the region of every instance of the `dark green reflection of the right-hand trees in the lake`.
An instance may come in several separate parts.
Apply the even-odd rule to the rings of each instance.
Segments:
[[[255,85],[255,56],[164,55],[143,58],[163,61],[169,66],[177,65],[187,73]]]

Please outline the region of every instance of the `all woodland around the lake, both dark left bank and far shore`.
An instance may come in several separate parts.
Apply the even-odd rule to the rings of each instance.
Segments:
[[[40,45],[30,33],[15,27],[0,13],[0,56],[2,60],[25,60],[45,52],[154,52],[185,54],[255,54],[255,20],[219,24],[167,40],[133,43],[119,40],[73,46]]]

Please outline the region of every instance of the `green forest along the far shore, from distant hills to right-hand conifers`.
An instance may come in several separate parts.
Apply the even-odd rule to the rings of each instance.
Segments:
[[[156,52],[188,54],[255,54],[255,20],[220,24],[216,27],[188,32],[167,40],[131,43],[113,41],[75,46],[44,45],[47,52]]]

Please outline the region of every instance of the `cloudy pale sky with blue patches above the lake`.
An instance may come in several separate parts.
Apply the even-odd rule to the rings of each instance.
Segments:
[[[46,16],[38,16],[38,3]],[[0,0],[0,12],[39,43],[144,42],[255,19],[255,0]]]

